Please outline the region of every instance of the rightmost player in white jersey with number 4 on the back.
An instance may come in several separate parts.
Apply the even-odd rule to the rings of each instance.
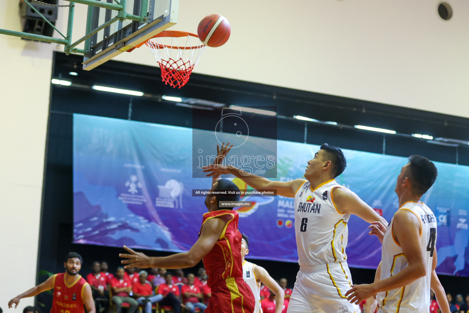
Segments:
[[[395,188],[399,209],[383,237],[379,276],[348,290],[352,303],[378,294],[379,313],[428,313],[431,289],[441,312],[450,312],[435,272],[437,220],[420,201],[437,175],[433,162],[421,155],[411,155],[402,167]]]

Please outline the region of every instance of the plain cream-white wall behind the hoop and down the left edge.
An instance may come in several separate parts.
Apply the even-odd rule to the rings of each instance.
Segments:
[[[230,21],[230,40],[207,48],[197,73],[469,117],[469,1],[448,1],[454,16],[445,22],[436,14],[438,0],[180,0],[173,29],[196,32],[211,13]],[[78,4],[75,40],[85,16]],[[66,18],[61,9],[58,25]],[[21,30],[18,1],[1,1],[0,28]],[[0,47],[0,280],[15,282],[0,284],[5,310],[35,282],[57,45],[0,35]],[[118,60],[155,64],[146,47]],[[23,299],[20,308],[30,304]]]

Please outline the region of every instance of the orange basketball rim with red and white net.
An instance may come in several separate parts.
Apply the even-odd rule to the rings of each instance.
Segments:
[[[186,31],[162,31],[135,47],[143,44],[150,48],[158,62],[163,82],[173,88],[181,88],[188,82],[192,70],[205,50],[205,45],[199,37]]]

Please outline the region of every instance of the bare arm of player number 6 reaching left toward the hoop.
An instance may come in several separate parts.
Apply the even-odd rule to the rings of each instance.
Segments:
[[[207,176],[217,176],[217,175],[228,175],[233,174],[234,176],[241,179],[244,183],[247,183],[252,188],[263,191],[263,190],[276,190],[277,195],[294,198],[295,192],[300,188],[300,186],[306,181],[305,179],[295,179],[289,182],[276,182],[269,180],[265,177],[258,176],[255,174],[250,174],[242,169],[226,166],[226,165],[209,165],[203,167],[204,172],[212,172]]]

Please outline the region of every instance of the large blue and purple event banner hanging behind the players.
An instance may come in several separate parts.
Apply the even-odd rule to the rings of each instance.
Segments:
[[[202,214],[207,212],[204,198],[192,197],[192,190],[209,189],[212,182],[193,178],[193,167],[197,166],[193,132],[200,136],[207,132],[209,137],[206,130],[75,114],[74,243],[188,251],[197,241]],[[223,136],[229,141],[236,135]],[[197,149],[212,149],[216,154],[217,144],[202,141]],[[303,178],[308,160],[319,150],[318,145],[282,140],[277,140],[276,146],[276,155],[271,154],[275,156],[277,178],[271,179],[279,181]],[[259,150],[251,154],[263,153],[262,146],[252,145],[251,149]],[[337,182],[391,221],[398,208],[396,178],[407,159],[343,152],[348,167]],[[230,155],[236,155],[235,149]],[[427,157],[431,159],[431,155]],[[242,165],[249,167],[252,163]],[[469,167],[435,165],[438,179],[422,201],[438,219],[437,273],[469,276]],[[240,189],[250,189],[238,178],[228,178]],[[239,229],[250,237],[250,258],[297,262],[293,198],[244,196],[240,200],[252,202],[250,207],[236,208]],[[346,249],[350,267],[378,266],[381,244],[368,235],[368,226],[356,216],[350,218]]]

